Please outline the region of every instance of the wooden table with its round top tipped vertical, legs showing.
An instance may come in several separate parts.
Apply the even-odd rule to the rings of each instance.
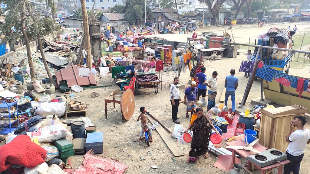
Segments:
[[[113,97],[113,99],[110,97]],[[120,99],[117,100],[115,98]],[[108,103],[113,103],[113,108],[115,108],[115,103],[119,103],[121,105],[122,120],[125,119],[128,121],[135,112],[135,97],[132,90],[112,91],[112,93],[104,99],[105,118],[108,118]]]

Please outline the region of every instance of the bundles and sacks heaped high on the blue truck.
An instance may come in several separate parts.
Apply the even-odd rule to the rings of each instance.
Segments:
[[[294,34],[295,32],[290,31],[289,28],[272,27],[268,31],[264,31],[263,33],[259,34],[258,38],[262,39],[263,41],[272,40],[273,47],[287,48],[286,44],[294,43],[294,41],[292,40],[292,36]],[[290,48],[291,48],[291,45],[289,45],[289,49]],[[286,56],[287,56],[287,53],[285,51],[272,50],[272,54],[271,54],[272,59],[284,60]]]

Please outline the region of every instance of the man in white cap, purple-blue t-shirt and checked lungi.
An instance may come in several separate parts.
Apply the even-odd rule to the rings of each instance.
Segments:
[[[184,104],[186,105],[186,118],[189,118],[188,112],[194,113],[196,102],[198,100],[198,89],[196,82],[192,81],[191,86],[187,87],[184,92]]]

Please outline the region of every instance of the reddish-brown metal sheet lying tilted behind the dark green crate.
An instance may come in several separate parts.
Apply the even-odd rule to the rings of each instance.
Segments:
[[[97,81],[92,73],[90,73],[87,77],[78,76],[78,66],[70,65],[64,69],[60,69],[59,72],[56,72],[56,82],[59,84],[60,80],[67,80],[68,86],[71,87],[73,85],[79,86],[95,86],[97,85]]]

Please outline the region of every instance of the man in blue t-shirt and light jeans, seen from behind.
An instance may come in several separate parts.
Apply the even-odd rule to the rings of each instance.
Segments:
[[[232,99],[232,111],[231,114],[235,114],[235,91],[238,88],[238,77],[235,77],[235,70],[231,69],[230,70],[230,76],[226,76],[225,79],[225,88],[226,88],[226,92],[225,92],[225,105],[227,106],[227,100],[228,97],[230,96],[230,98]]]

